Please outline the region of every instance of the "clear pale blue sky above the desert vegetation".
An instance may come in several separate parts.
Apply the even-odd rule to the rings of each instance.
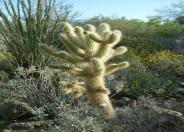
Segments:
[[[147,16],[156,14],[155,9],[169,6],[178,0],[65,0],[73,4],[74,10],[81,13],[79,18],[92,16],[117,16],[128,19],[146,20]]]

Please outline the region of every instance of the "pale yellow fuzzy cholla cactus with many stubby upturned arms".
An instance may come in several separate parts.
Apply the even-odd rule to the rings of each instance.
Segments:
[[[104,84],[104,76],[129,65],[128,62],[106,63],[111,58],[127,51],[124,46],[113,48],[120,41],[121,32],[111,30],[106,23],[101,23],[98,29],[90,24],[82,28],[62,23],[62,27],[63,32],[60,37],[67,51],[58,52],[44,45],[42,48],[48,54],[63,59],[68,66],[50,65],[50,67],[84,78],[84,83],[73,82],[66,85],[65,93],[73,93],[77,97],[86,93],[90,103],[102,107],[106,117],[111,117],[114,111],[108,97],[110,92]]]

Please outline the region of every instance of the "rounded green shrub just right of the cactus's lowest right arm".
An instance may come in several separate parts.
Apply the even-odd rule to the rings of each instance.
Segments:
[[[127,71],[121,71],[118,74],[119,76],[121,74],[126,75],[126,78],[124,78],[126,83],[123,90],[130,94],[140,96],[156,90],[157,86],[154,84],[154,74],[149,72],[137,58],[131,58],[130,67]]]

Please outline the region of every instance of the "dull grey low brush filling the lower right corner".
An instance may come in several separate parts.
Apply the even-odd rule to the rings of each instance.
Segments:
[[[135,107],[118,112],[124,132],[182,132],[184,117],[176,111],[157,107],[155,100],[143,98]]]

